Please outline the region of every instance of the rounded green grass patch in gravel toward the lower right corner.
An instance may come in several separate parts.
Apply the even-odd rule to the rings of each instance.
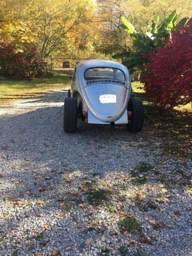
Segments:
[[[141,227],[136,218],[134,216],[128,216],[124,220],[118,221],[118,225],[129,232],[141,232]]]

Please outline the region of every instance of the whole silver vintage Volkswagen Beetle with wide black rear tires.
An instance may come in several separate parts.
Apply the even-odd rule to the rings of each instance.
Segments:
[[[129,131],[141,131],[143,103],[131,98],[131,77],[124,65],[107,60],[76,65],[65,98],[65,132],[76,132],[77,117],[88,124],[127,124]]]

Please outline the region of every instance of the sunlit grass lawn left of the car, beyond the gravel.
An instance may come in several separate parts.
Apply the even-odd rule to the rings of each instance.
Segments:
[[[0,106],[15,100],[40,97],[50,90],[68,88],[70,88],[70,73],[55,72],[53,77],[36,80],[0,77]]]

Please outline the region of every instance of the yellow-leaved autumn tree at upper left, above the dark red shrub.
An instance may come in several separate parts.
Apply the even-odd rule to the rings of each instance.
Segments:
[[[6,36],[13,40],[28,42],[46,59],[60,52],[71,42],[86,44],[91,38],[94,8],[92,1],[68,0],[6,0],[4,13],[8,22]],[[10,29],[7,31],[6,29]],[[16,35],[17,34],[17,35]]]

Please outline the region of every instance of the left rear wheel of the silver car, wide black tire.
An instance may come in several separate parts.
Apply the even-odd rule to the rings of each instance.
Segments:
[[[77,131],[77,99],[65,98],[63,128],[67,133]]]

